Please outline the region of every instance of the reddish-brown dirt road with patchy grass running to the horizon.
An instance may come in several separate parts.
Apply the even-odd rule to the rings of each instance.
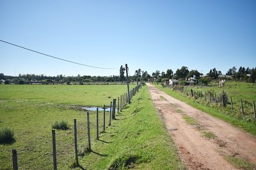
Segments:
[[[255,137],[147,85],[154,106],[188,169],[236,169],[227,162],[227,157],[244,158],[255,164]],[[196,125],[186,123],[184,115],[195,119]],[[202,133],[214,135],[207,138]]]

